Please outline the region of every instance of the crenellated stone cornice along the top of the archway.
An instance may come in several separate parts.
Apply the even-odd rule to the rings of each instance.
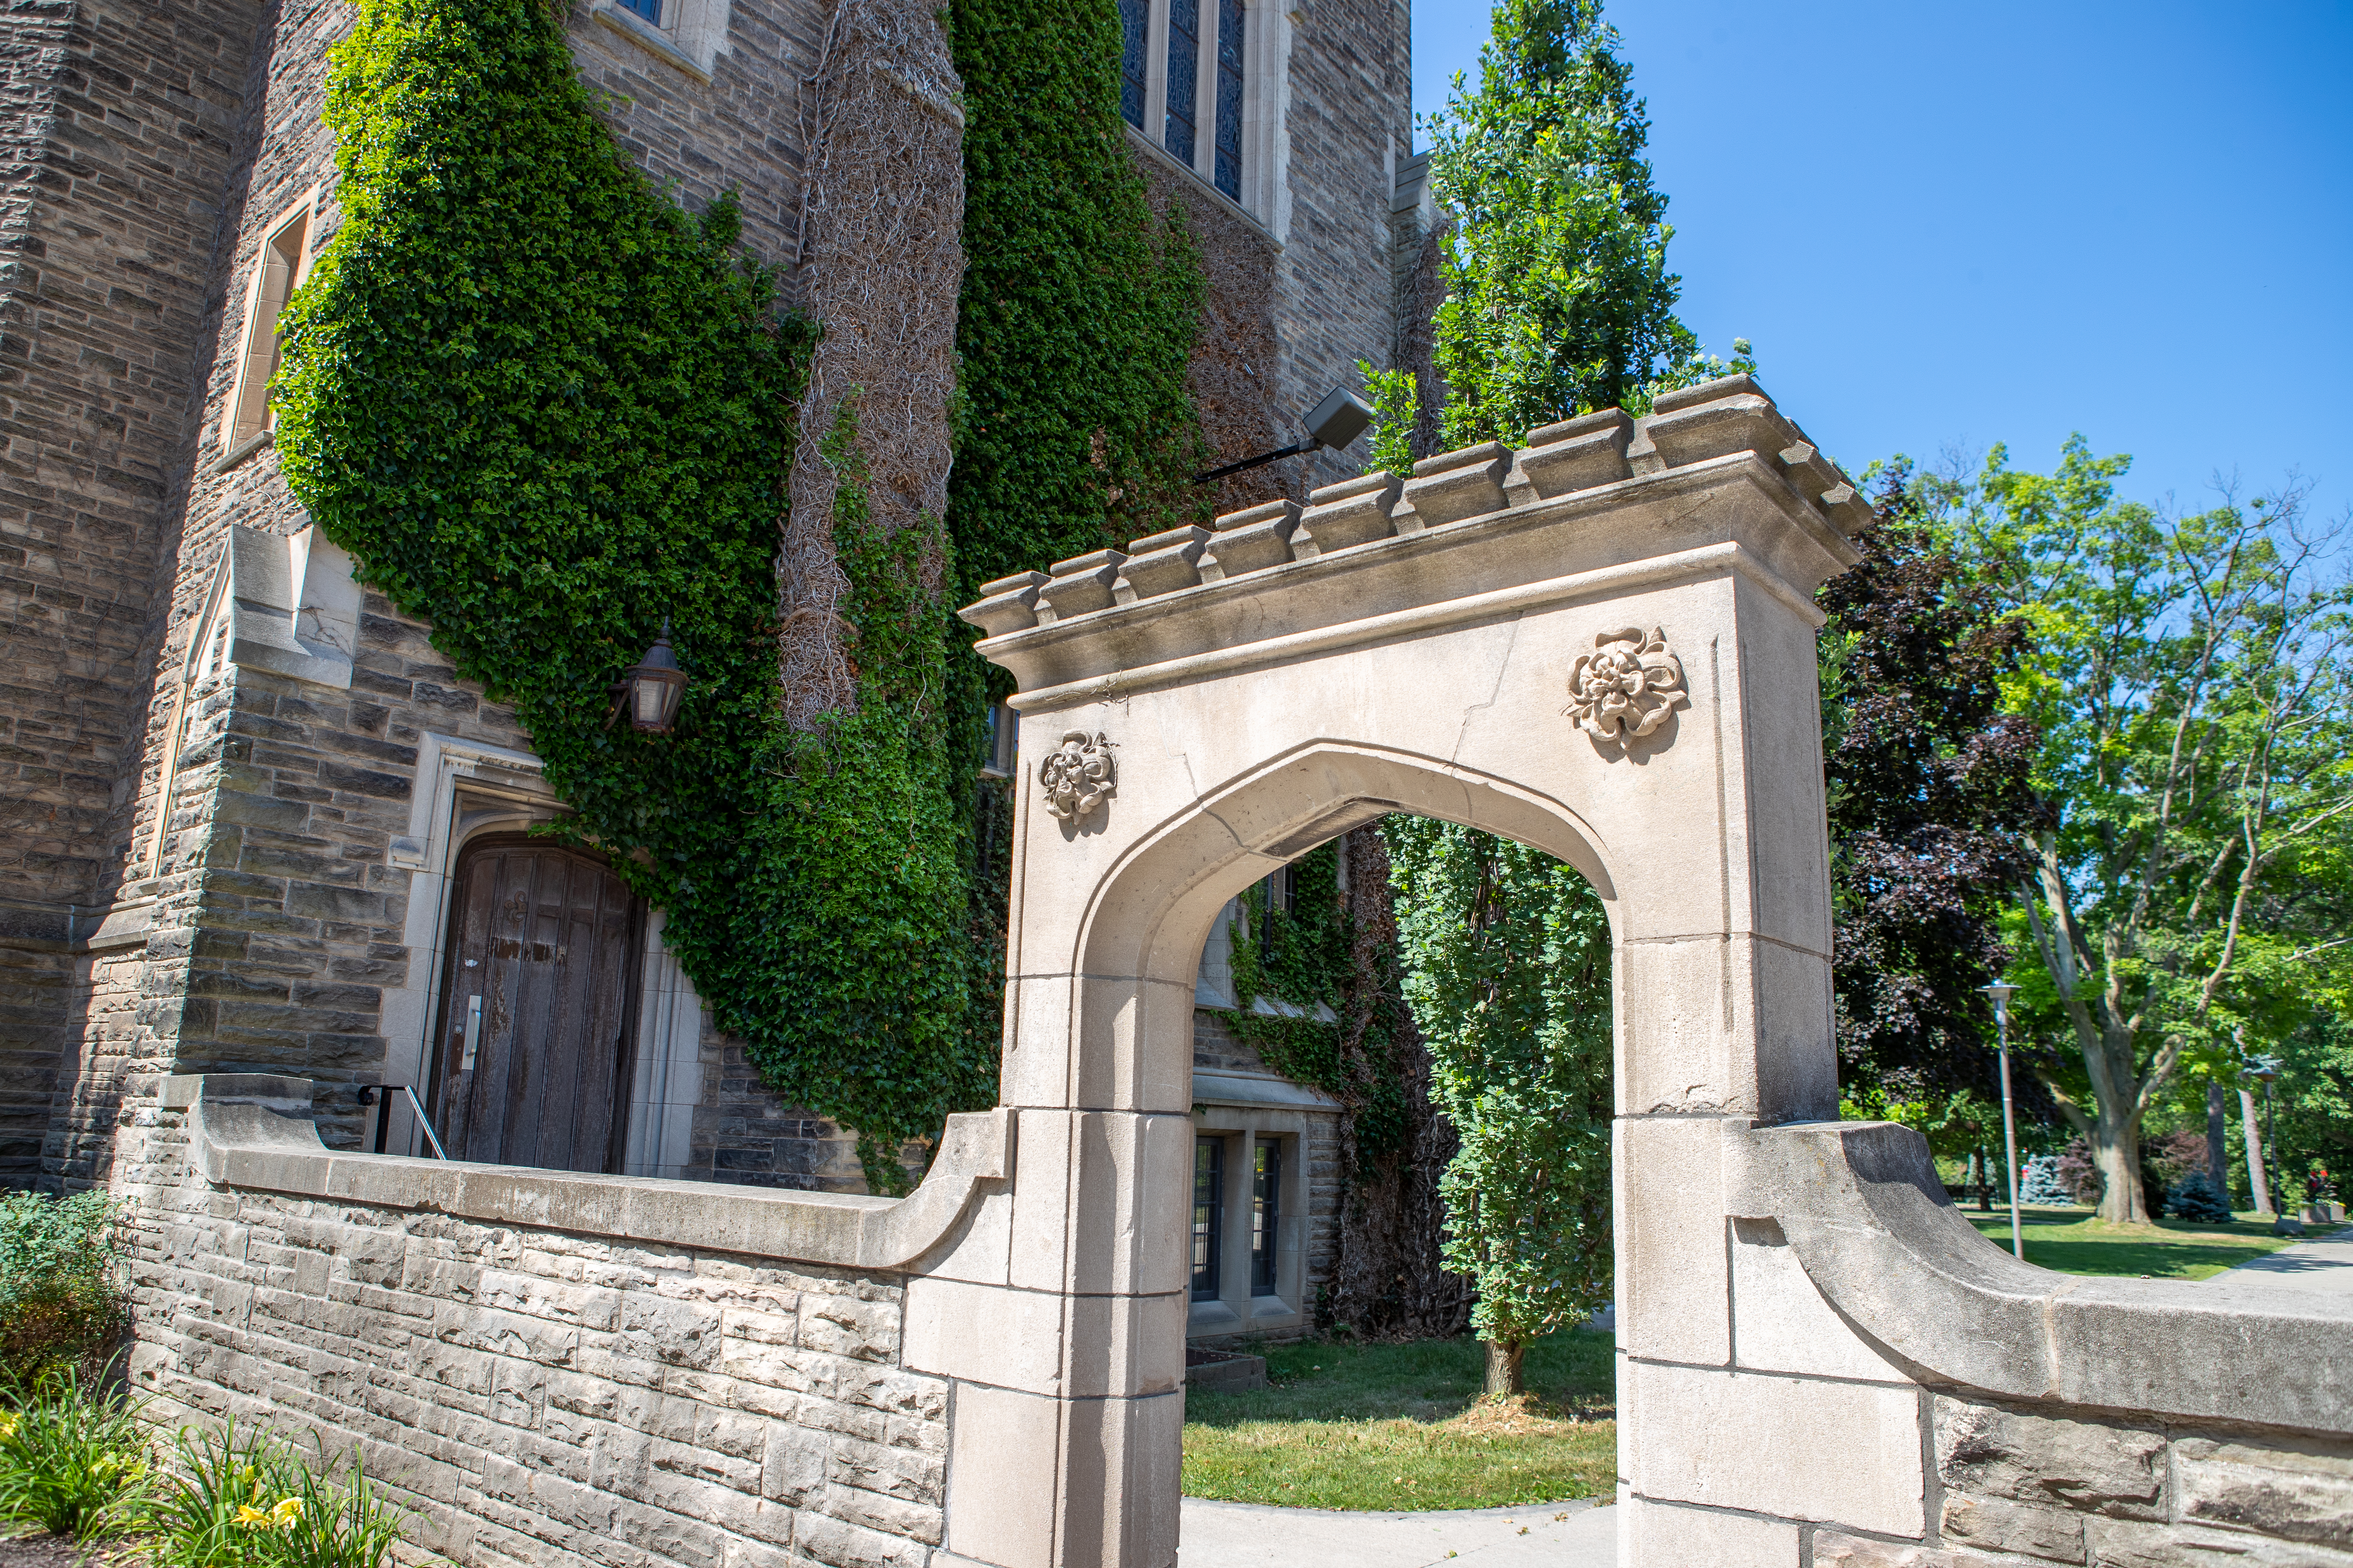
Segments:
[[[1741,576],[1819,625],[1871,508],[1748,376],[1261,505],[991,583],[965,621],[1024,712],[1428,635],[1675,581]],[[1188,538],[1179,541],[1176,534]],[[1174,543],[1172,543],[1174,541]],[[1205,545],[1205,548],[1202,548]]]

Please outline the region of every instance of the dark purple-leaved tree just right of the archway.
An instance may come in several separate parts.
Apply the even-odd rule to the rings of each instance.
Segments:
[[[1977,987],[2009,964],[2000,914],[2042,820],[2035,726],[2002,710],[2026,621],[1967,581],[1918,489],[1906,458],[1880,473],[1864,559],[1821,590],[1840,1081],[1873,1114],[1998,1103]]]

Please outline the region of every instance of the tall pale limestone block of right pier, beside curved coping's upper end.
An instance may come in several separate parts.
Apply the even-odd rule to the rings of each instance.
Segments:
[[[1713,1117],[1617,1121],[1617,1342],[1631,1356],[1692,1366],[1732,1359],[1720,1131]]]

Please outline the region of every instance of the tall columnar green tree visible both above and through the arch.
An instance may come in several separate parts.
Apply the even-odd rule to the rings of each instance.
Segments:
[[[1457,78],[1431,122],[1457,214],[1435,320],[1447,444],[1645,411],[1652,390],[1729,369],[1675,320],[1649,120],[1617,45],[1598,0],[1499,0],[1480,85]],[[1393,468],[1412,386],[1374,393],[1377,461]],[[1478,1288],[1489,1392],[1518,1394],[1529,1335],[1609,1291],[1609,1053],[1593,1046],[1609,1037],[1607,924],[1551,856],[1440,823],[1393,818],[1386,835],[1405,997],[1461,1138],[1445,1255]]]

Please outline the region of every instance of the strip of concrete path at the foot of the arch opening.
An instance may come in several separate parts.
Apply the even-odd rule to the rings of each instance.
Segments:
[[[1337,1514],[1184,1500],[1179,1568],[1617,1568],[1617,1509]]]

